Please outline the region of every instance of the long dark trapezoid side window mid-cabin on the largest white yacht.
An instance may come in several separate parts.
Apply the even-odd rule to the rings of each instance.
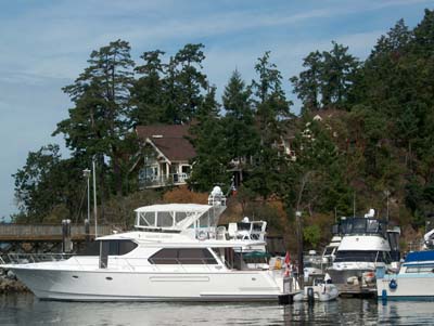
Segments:
[[[165,248],[148,260],[152,264],[217,264],[206,248]]]

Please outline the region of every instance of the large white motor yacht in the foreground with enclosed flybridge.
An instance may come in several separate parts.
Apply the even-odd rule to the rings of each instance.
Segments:
[[[276,300],[283,270],[252,266],[244,252],[264,238],[231,237],[217,220],[219,187],[208,205],[168,204],[136,210],[136,231],[98,237],[95,255],[54,262],[3,264],[38,298],[76,301]]]

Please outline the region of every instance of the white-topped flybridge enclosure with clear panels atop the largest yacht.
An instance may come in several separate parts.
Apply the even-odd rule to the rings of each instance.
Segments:
[[[221,210],[210,205],[166,204],[140,207],[136,211],[136,227],[182,231],[217,224]]]

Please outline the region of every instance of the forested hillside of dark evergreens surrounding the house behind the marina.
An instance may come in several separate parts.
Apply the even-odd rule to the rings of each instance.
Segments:
[[[305,242],[317,247],[335,217],[375,208],[407,242],[418,239],[434,213],[434,11],[413,29],[398,21],[365,61],[331,41],[329,51],[307,53],[289,80],[265,52],[254,80],[234,70],[217,92],[203,70],[205,53],[203,44],[186,44],[173,56],[154,50],[135,62],[124,40],[93,51],[63,89],[73,103],[68,118],[53,126],[71,157],[55,144],[29,153],[14,174],[21,212],[13,219],[82,221],[82,170],[92,158],[102,221],[128,226],[137,206],[203,199],[187,190],[139,191],[132,169],[135,126],[189,123],[197,153],[193,192],[216,184],[228,191],[239,162],[241,185],[225,219],[267,219],[272,233],[292,238],[299,210]]]

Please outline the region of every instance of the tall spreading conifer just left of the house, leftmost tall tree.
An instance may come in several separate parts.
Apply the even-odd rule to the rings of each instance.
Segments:
[[[123,191],[122,160],[126,157],[125,136],[129,132],[132,67],[128,42],[117,40],[90,54],[89,67],[76,81],[63,88],[74,107],[69,118],[58,123],[53,135],[63,133],[75,155],[97,155],[104,167],[110,158],[113,190]],[[100,180],[105,179],[102,170]],[[101,184],[104,188],[104,184]]]

